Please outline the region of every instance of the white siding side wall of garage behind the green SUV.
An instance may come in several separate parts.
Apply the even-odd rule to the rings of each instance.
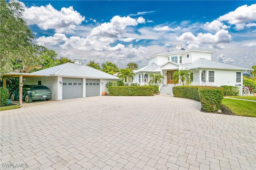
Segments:
[[[52,99],[58,99],[58,77],[28,77],[26,78],[27,85],[37,85],[38,81],[42,81],[42,85],[47,86],[52,90]],[[60,84],[60,83],[59,83]]]

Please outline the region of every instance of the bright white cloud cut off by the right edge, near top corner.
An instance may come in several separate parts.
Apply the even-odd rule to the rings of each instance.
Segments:
[[[243,5],[236,8],[236,10],[228,12],[223,16],[220,16],[217,20],[223,22],[227,21],[228,24],[236,26],[236,30],[244,29],[246,23],[255,22],[256,16],[256,4],[250,6]]]

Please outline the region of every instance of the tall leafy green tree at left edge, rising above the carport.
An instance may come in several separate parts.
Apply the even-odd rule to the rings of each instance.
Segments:
[[[29,72],[37,56],[34,36],[22,16],[24,8],[18,1],[0,0],[0,11],[0,72]]]

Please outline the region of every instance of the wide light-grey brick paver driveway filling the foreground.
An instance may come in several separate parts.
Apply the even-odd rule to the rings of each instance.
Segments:
[[[156,95],[3,111],[1,169],[256,169],[256,119],[200,108]]]

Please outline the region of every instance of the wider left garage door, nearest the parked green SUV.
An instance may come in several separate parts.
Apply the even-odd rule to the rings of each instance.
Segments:
[[[62,78],[62,99],[82,97],[82,79]]]

